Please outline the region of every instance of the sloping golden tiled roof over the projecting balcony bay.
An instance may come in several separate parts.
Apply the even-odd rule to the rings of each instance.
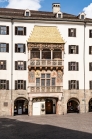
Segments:
[[[65,43],[56,26],[34,26],[27,42]]]

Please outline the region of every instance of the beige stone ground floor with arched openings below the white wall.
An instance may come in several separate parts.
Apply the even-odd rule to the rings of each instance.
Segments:
[[[88,92],[87,92],[88,93]],[[7,94],[7,95],[5,95]],[[81,95],[80,95],[81,94]],[[92,96],[65,91],[65,93],[0,92],[0,115],[46,115],[92,112]]]

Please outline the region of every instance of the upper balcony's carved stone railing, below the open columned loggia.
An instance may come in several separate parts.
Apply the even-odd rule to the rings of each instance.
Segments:
[[[56,67],[56,66],[63,66],[63,60],[30,60],[30,63],[28,63],[31,67],[36,66],[42,66],[42,67]]]

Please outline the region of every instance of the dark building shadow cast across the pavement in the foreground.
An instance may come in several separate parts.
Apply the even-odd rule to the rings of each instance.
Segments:
[[[0,118],[0,139],[91,139],[91,133]]]

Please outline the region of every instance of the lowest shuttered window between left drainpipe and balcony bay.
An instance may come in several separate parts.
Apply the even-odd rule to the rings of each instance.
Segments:
[[[18,89],[26,90],[25,80],[15,80],[15,90],[18,90]]]

